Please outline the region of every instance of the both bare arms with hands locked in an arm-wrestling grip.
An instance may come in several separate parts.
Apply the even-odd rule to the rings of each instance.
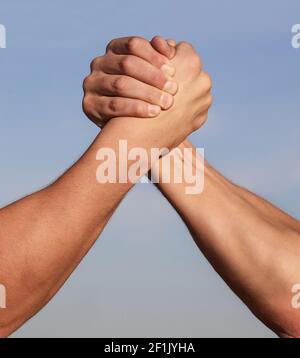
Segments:
[[[204,164],[197,166],[197,151],[187,137],[208,118],[212,83],[193,47],[161,37],[113,40],[92,62],[83,87],[84,112],[102,128],[100,134],[58,180],[0,210],[0,288],[5,292],[0,336],[14,332],[56,294],[133,184],[151,170],[233,292],[279,336],[299,337],[300,222],[208,163],[205,172]],[[135,153],[125,163],[122,153],[111,156],[120,140]],[[186,195],[186,183],[160,180],[163,170],[158,169],[169,157],[165,150],[155,165],[141,156],[134,181],[95,180],[96,159],[105,156],[108,169],[111,162],[118,167],[119,179],[121,172],[129,175],[137,147],[149,155],[153,148],[172,150],[178,160],[169,162],[169,174],[182,169],[181,150],[190,150],[190,172],[205,178],[201,193]]]

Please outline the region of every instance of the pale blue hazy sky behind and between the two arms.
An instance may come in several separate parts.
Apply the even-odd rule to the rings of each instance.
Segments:
[[[0,0],[0,206],[52,182],[98,133],[82,80],[109,40],[186,40],[214,81],[191,139],[235,182],[300,218],[299,0]],[[137,185],[58,295],[15,337],[272,337],[172,207]]]

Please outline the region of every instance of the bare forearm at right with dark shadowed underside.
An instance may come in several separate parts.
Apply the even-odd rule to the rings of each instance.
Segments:
[[[186,195],[184,183],[159,187],[248,307],[279,335],[298,335],[300,314],[291,306],[291,290],[300,273],[299,222],[208,164],[199,195]]]

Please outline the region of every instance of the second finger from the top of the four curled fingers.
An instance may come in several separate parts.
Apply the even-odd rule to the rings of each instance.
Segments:
[[[137,56],[107,55],[103,57],[102,62],[102,70],[106,74],[133,77],[170,94],[177,92],[178,86],[174,81],[167,79],[161,70]]]

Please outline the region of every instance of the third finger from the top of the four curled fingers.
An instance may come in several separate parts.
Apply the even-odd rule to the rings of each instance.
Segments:
[[[104,75],[94,83],[90,91],[100,95],[139,99],[162,109],[169,109],[174,103],[171,94],[127,76]]]

